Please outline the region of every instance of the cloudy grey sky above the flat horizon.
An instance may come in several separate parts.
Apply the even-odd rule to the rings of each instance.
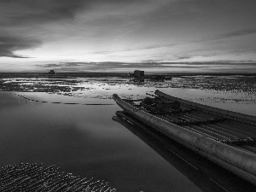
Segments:
[[[256,73],[255,0],[0,0],[0,72]]]

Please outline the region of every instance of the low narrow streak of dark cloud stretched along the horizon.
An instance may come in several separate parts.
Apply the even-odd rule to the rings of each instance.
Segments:
[[[133,71],[135,69],[144,69],[147,71],[149,68],[156,70],[165,70],[166,68],[180,68],[181,70],[187,69],[200,69],[212,67],[255,67],[255,62],[245,61],[207,61],[207,62],[161,62],[161,61],[144,61],[144,62],[60,62],[58,64],[49,63],[38,65],[39,69],[49,70],[54,69],[56,72],[96,72],[96,71],[111,71],[122,70]],[[163,71],[164,72],[164,71]]]

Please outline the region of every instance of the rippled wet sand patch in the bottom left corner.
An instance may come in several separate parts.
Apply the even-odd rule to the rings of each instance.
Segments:
[[[109,191],[108,183],[59,172],[59,167],[43,164],[15,164],[0,169],[1,191]]]

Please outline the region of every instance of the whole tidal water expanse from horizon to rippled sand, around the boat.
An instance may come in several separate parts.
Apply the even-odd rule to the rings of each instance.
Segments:
[[[117,191],[252,191],[251,184],[158,132],[114,120],[124,99],[160,90],[191,102],[256,116],[256,77],[125,73],[0,73],[0,167],[43,163]]]

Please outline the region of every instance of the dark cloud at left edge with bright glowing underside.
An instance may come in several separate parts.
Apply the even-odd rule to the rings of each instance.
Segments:
[[[33,38],[11,37],[0,35],[0,57],[27,58],[27,56],[16,55],[13,51],[20,49],[32,49],[38,47],[40,41]]]

